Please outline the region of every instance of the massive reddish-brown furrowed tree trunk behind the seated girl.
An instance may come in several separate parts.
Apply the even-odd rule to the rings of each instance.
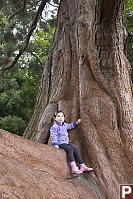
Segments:
[[[70,134],[105,198],[133,183],[133,96],[121,0],[62,0],[25,137],[47,143],[58,109],[83,120]]]

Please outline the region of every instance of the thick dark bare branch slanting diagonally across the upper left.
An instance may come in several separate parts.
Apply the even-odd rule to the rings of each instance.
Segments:
[[[37,22],[38,22],[38,20],[39,20],[41,14],[42,14],[42,11],[43,11],[43,9],[44,9],[44,7],[45,7],[47,1],[48,1],[48,0],[41,0],[41,4],[40,4],[40,6],[39,6],[39,8],[38,8],[38,10],[37,10],[36,16],[35,16],[35,18],[34,18],[32,24],[31,24],[31,27],[30,27],[30,30],[29,30],[28,35],[27,35],[27,37],[26,37],[26,40],[25,40],[25,42],[24,42],[24,45],[20,48],[19,53],[18,53],[18,55],[15,57],[13,63],[12,63],[9,67],[2,69],[3,71],[6,71],[6,70],[8,70],[8,69],[13,68],[13,66],[17,63],[18,59],[21,57],[21,55],[22,55],[22,54],[24,53],[24,51],[27,49],[28,44],[29,44],[30,37],[31,37],[33,31],[35,30],[35,28],[36,28],[36,26],[37,26]]]

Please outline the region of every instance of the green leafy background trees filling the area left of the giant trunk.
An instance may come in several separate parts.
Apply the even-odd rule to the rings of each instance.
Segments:
[[[3,1],[0,11],[0,128],[18,135],[23,135],[30,120],[55,30],[57,7],[52,9],[51,17],[47,8],[38,18],[29,45],[14,67],[39,5],[40,1]]]

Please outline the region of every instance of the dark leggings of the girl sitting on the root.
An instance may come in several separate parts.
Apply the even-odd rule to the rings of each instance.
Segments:
[[[83,164],[83,160],[80,155],[80,152],[75,146],[64,143],[64,144],[60,144],[59,147],[64,149],[67,152],[69,162],[75,161],[74,160],[75,158],[76,161],[79,162],[79,164]]]

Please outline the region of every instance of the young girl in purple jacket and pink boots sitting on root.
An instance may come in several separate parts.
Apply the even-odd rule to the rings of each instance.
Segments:
[[[75,128],[78,124],[81,123],[81,119],[78,119],[77,122],[73,122],[71,124],[68,124],[64,122],[65,115],[63,111],[57,111],[54,115],[54,125],[50,128],[50,135],[52,144],[56,148],[62,148],[67,152],[68,160],[70,162],[71,171],[75,174],[81,174],[83,171],[91,171],[92,168],[88,168],[80,155],[80,152],[78,149],[69,144],[69,138],[68,138],[68,132],[67,130],[70,130],[72,128]],[[80,164],[80,170],[76,166],[75,159]]]

